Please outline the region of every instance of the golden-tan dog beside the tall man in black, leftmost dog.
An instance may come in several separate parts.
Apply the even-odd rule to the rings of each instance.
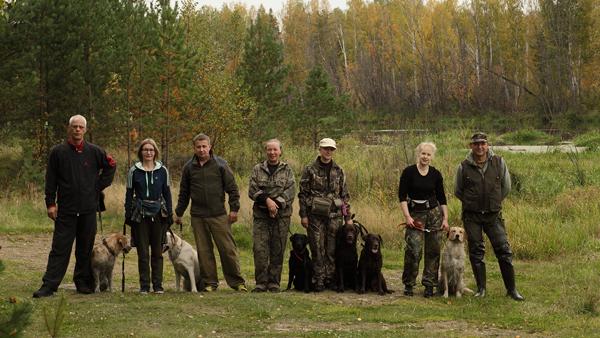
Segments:
[[[96,282],[96,292],[112,291],[112,273],[115,258],[124,251],[131,250],[127,236],[112,233],[102,239],[101,244],[95,244],[92,250],[92,273]]]

